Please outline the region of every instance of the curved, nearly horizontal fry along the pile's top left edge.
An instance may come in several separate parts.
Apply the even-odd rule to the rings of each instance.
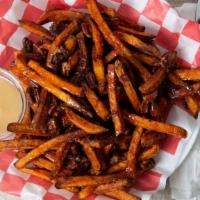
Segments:
[[[46,24],[48,22],[59,23],[61,21],[73,21],[74,19],[82,20],[84,14],[73,12],[71,10],[49,10],[45,12],[38,20],[38,24]]]

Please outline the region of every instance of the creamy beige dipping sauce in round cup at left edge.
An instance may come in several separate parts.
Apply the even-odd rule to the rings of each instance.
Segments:
[[[17,122],[22,112],[22,98],[9,80],[0,76],[0,134],[10,122]]]

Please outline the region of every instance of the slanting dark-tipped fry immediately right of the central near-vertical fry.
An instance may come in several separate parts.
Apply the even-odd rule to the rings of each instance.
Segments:
[[[133,106],[134,110],[137,112],[140,112],[141,104],[137,96],[137,93],[127,73],[125,72],[124,66],[119,60],[115,61],[115,73],[117,77],[119,78],[119,81],[123,85],[126,95],[128,96],[128,99],[131,102],[131,105]]]

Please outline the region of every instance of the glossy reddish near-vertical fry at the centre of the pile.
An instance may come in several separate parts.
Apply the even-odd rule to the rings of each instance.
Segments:
[[[108,98],[110,104],[110,111],[112,116],[113,125],[115,128],[115,134],[119,135],[124,132],[124,121],[121,115],[121,111],[116,97],[116,77],[115,66],[113,64],[108,65]]]

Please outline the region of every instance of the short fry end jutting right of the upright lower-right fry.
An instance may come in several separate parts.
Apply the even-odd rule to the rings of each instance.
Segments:
[[[144,150],[139,155],[139,160],[149,160],[150,158],[153,158],[156,156],[160,151],[160,147],[158,144],[154,144],[148,149]]]

